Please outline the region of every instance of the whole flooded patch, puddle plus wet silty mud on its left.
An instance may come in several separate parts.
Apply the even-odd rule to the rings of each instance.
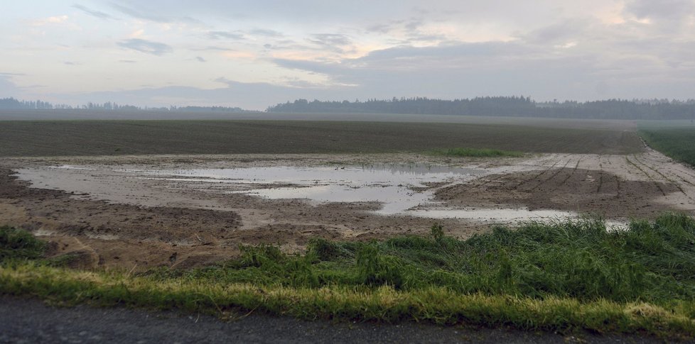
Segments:
[[[51,170],[62,173],[51,173]],[[382,216],[460,218],[485,223],[517,223],[577,216],[570,211],[529,211],[525,208],[452,209],[434,200],[435,192],[441,187],[499,173],[494,169],[475,167],[399,164],[157,170],[65,165],[48,170],[18,172],[21,178],[30,180],[37,187],[65,189],[114,201],[125,199],[139,202],[156,197],[154,189],[147,189],[147,184],[134,183],[133,187],[138,189],[123,187],[129,184],[127,180],[130,179],[156,180],[156,188],[247,194],[264,199],[301,199],[315,205],[328,202],[376,203],[379,209],[372,213]],[[114,187],[122,192],[121,199],[112,194]],[[185,199],[177,201],[185,203]]]

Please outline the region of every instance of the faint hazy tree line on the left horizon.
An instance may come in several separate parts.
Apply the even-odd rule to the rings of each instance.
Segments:
[[[81,106],[65,104],[51,104],[48,101],[23,101],[14,98],[0,99],[0,110],[40,110],[40,109],[66,109],[66,110],[102,110],[102,111],[220,111],[220,112],[254,112],[237,107],[227,106],[169,106],[169,107],[140,107],[133,105],[121,105],[110,101],[104,104],[87,103]]]

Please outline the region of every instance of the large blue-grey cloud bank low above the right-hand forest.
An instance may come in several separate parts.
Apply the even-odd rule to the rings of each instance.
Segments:
[[[404,46],[375,50],[365,57],[339,62],[287,59],[272,62],[292,70],[323,74],[331,87],[352,85],[343,87],[343,94],[333,92],[333,99],[390,96],[452,99],[527,94],[540,100],[581,100],[661,94],[664,85],[672,82],[669,79],[673,80],[679,73],[667,73],[659,59],[650,56],[651,50],[638,46],[642,46],[645,54],[635,55],[638,59],[625,55],[622,59],[607,60],[586,52],[558,54],[545,46],[512,41]],[[657,46],[654,50],[663,48]],[[690,77],[693,74],[693,67],[685,73]],[[692,84],[692,79],[687,78],[680,77],[679,83]],[[681,98],[688,97],[683,91],[672,94],[676,96],[676,93]]]

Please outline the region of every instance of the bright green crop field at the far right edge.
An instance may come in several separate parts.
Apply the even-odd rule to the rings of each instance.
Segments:
[[[695,128],[641,128],[647,145],[695,167]]]

